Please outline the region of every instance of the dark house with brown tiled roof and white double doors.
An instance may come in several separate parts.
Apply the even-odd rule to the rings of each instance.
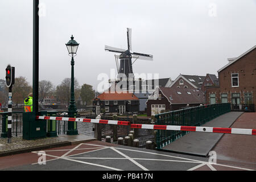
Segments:
[[[155,96],[155,97],[154,97]],[[183,109],[184,107],[195,107],[203,104],[204,93],[201,90],[190,88],[167,88],[159,87],[148,98],[147,115],[159,114],[162,111]]]

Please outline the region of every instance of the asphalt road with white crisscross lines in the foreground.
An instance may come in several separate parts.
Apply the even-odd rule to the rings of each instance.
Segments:
[[[208,158],[173,154],[110,144],[100,141],[51,148],[44,151],[46,164],[39,164],[43,152],[34,151],[0,158],[2,170],[75,170],[75,171],[171,171],[171,170],[250,170],[241,166],[211,164]]]

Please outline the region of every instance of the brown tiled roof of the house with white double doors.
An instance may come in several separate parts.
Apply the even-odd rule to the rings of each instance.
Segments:
[[[169,88],[162,86],[156,89],[162,92],[170,104],[202,104],[204,101],[204,93],[197,89]]]

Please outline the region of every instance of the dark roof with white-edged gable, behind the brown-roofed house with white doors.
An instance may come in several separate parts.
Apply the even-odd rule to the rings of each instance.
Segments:
[[[191,84],[194,88],[201,88],[201,84],[204,81],[205,76],[198,75],[179,75],[174,82],[172,82],[171,86],[175,84],[179,80],[179,78],[183,78],[189,84]]]

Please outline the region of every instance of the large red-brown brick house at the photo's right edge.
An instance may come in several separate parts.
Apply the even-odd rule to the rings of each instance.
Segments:
[[[207,104],[228,102],[233,109],[253,107],[252,110],[255,111],[256,46],[228,61],[228,64],[218,70],[219,86],[206,88]]]

